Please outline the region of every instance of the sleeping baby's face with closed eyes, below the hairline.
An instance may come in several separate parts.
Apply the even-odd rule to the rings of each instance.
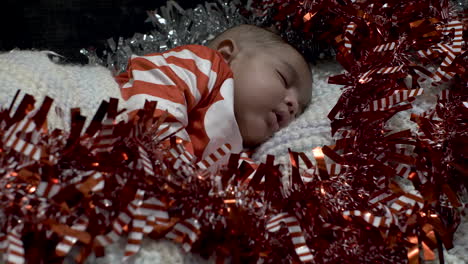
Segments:
[[[245,147],[254,147],[294,120],[310,101],[312,77],[287,44],[240,51],[230,62],[234,111]]]

